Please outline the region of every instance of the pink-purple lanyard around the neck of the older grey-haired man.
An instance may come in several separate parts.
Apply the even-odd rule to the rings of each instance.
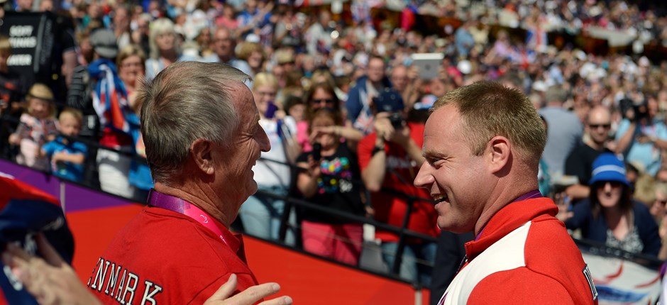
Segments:
[[[167,209],[169,211],[175,211],[176,213],[188,216],[198,223],[201,223],[202,226],[206,227],[211,232],[220,236],[220,239],[225,245],[229,245],[227,240],[224,238],[222,230],[220,230],[219,226],[216,225],[216,220],[194,204],[191,204],[175,196],[162,194],[155,191],[155,189],[151,189],[150,194],[148,195],[148,205]]]

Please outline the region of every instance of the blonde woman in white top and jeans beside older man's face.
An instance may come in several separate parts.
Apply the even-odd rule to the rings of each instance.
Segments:
[[[271,150],[263,152],[262,159],[253,167],[255,182],[263,192],[250,196],[239,211],[245,233],[271,240],[278,240],[280,236],[283,213],[289,213],[290,223],[295,223],[295,216],[285,209],[282,197],[289,191],[291,182],[289,165],[300,152],[294,118],[276,117],[277,90],[278,81],[272,74],[255,75],[253,96],[260,113],[259,124],[268,136]],[[294,244],[293,230],[287,231],[285,242]]]

